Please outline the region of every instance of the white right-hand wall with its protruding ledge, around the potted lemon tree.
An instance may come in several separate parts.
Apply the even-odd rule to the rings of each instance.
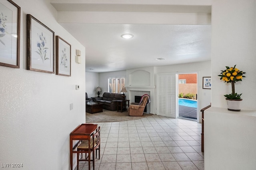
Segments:
[[[204,114],[204,168],[255,169],[256,0],[212,1],[212,107]],[[245,71],[235,84],[242,93],[241,112],[227,110],[231,85],[217,76],[225,66]],[[249,111],[254,110],[254,111]]]

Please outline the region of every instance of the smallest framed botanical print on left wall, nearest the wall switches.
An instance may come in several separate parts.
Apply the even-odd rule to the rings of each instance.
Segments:
[[[56,74],[71,76],[71,45],[56,36]]]

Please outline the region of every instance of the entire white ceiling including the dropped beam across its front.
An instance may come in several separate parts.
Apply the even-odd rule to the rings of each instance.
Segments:
[[[52,2],[54,8],[61,11],[58,14],[59,23],[86,48],[86,72],[109,72],[211,59],[211,25],[198,24],[202,22],[199,21],[202,12],[210,13],[210,6],[97,4],[97,2],[86,4],[86,1],[90,2],[90,0],[78,1],[79,3],[76,4],[69,0]],[[186,13],[177,15],[172,12]],[[154,14],[158,18],[161,16],[159,18],[161,22],[166,23],[159,24]],[[193,22],[198,23],[191,24],[190,14],[192,19],[195,19]],[[93,17],[98,18],[99,23],[97,21],[92,23],[90,18]],[[123,17],[126,20],[120,23]],[[144,23],[145,19],[147,24]],[[102,21],[104,23],[100,23]],[[177,24],[179,22],[182,24]],[[133,34],[134,37],[123,39],[121,35],[124,33]],[[156,60],[158,58],[165,60],[158,61]]]

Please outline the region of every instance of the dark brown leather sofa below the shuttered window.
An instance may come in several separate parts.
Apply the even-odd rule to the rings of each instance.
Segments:
[[[95,101],[103,104],[103,109],[115,111],[117,110],[117,102],[115,100],[123,100],[121,93],[109,93],[104,92],[101,98],[97,98]]]

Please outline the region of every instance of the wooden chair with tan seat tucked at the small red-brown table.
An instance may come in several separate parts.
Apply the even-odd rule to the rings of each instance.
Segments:
[[[95,155],[97,158],[97,150],[99,151],[99,159],[100,159],[100,127],[96,129],[96,132],[92,135],[90,142],[88,140],[82,141],[77,147],[77,170],[79,168],[79,161],[88,161],[88,166],[90,170],[90,162],[92,161],[93,170],[95,168]],[[92,152],[92,160],[91,160],[91,152]],[[85,158],[83,159],[83,153],[85,153]],[[81,154],[81,158],[80,158]],[[88,156],[87,156],[88,154]]]

